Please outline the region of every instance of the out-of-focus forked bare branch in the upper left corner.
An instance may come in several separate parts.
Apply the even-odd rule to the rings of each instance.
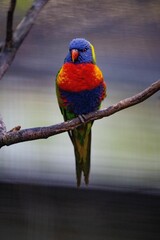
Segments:
[[[14,31],[13,38],[12,38],[12,22],[7,24],[7,38],[6,41],[9,43],[10,40],[12,40],[12,44],[5,44],[4,47],[1,47],[1,53],[0,53],[0,79],[3,77],[5,72],[8,70],[9,66],[11,65],[17,50],[21,46],[23,40],[31,30],[35,19],[37,18],[39,12],[44,7],[44,5],[49,0],[35,0],[32,7],[28,10],[26,16],[22,19],[20,24],[17,26],[16,30]],[[14,2],[14,1],[13,1]],[[14,5],[10,6],[10,10],[12,12],[12,18],[13,18],[13,11],[14,11]],[[9,11],[10,11],[9,10]],[[11,33],[11,35],[10,35]]]

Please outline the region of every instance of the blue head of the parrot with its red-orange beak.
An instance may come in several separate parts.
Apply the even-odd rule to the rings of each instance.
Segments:
[[[84,38],[75,38],[70,42],[69,52],[64,60],[69,63],[96,63],[93,45]]]

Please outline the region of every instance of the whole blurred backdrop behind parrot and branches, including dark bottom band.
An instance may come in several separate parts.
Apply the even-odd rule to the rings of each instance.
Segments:
[[[9,2],[1,0],[1,42]],[[31,4],[17,0],[15,27]],[[0,114],[8,130],[63,121],[55,76],[75,37],[95,47],[108,86],[102,108],[160,78],[159,0],[50,0],[0,81]],[[16,239],[159,239],[159,123],[159,93],[96,121],[90,184],[80,191],[67,133],[3,147],[1,239],[11,233]]]

